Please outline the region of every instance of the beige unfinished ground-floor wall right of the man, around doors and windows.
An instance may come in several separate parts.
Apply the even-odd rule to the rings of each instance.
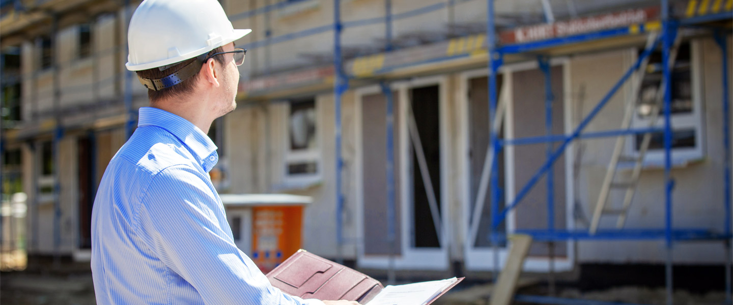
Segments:
[[[720,66],[720,57],[716,53],[718,52],[717,47],[713,45],[712,40],[704,39],[701,40],[700,43],[702,43],[701,50],[704,50],[704,53],[701,55],[703,58],[702,62],[704,63],[702,71],[704,74],[704,79],[708,80],[702,83],[705,92],[703,103],[705,117],[703,118],[702,122],[704,124],[703,128],[705,129],[704,141],[706,146],[706,157],[701,162],[696,161],[691,162],[685,167],[675,167],[672,172],[677,181],[677,187],[674,191],[674,224],[675,226],[679,225],[679,227],[703,227],[710,228],[712,230],[721,230],[722,228],[720,227],[720,225],[722,224],[722,218],[719,215],[721,215],[723,212],[723,197],[722,191],[720,191],[722,189],[723,183],[721,179],[722,144],[718,140],[722,136],[720,130],[721,118],[719,118],[721,112],[721,103],[719,102],[721,98],[721,84],[718,81],[718,75],[720,74],[720,71],[718,69],[718,67]],[[570,120],[572,122],[571,125],[573,127],[577,126],[578,121],[580,121],[581,117],[592,110],[594,105],[596,105],[597,102],[603,97],[603,94],[605,94],[605,92],[611,88],[616,80],[618,80],[622,76],[622,74],[625,72],[625,69],[633,64],[633,60],[636,56],[635,54],[636,49],[632,50],[627,48],[609,50],[600,53],[591,53],[581,56],[571,56],[570,59],[568,59],[567,69],[567,72],[569,72],[567,80],[570,80],[570,85],[568,86],[570,91],[565,92],[565,94],[568,95],[567,99],[570,99],[571,101],[570,104],[567,105],[568,107],[572,108],[570,111],[567,112],[570,113],[571,116],[564,117],[564,119],[555,120],[554,123],[556,127],[562,127],[567,120]],[[447,101],[450,105],[448,108],[451,109],[451,112],[447,114],[447,116],[449,117],[449,121],[446,122],[446,124],[448,124],[449,126],[449,141],[451,143],[451,148],[449,148],[448,151],[445,151],[446,154],[449,154],[451,156],[449,157],[450,168],[446,172],[446,175],[449,177],[448,206],[449,213],[451,214],[451,216],[449,216],[449,219],[451,219],[449,221],[449,236],[452,237],[452,240],[450,241],[452,247],[450,259],[463,260],[464,254],[463,249],[460,245],[462,245],[464,242],[463,239],[465,239],[465,230],[467,229],[465,227],[465,223],[463,222],[462,216],[456,216],[456,211],[462,211],[464,205],[468,204],[468,201],[463,196],[462,192],[458,191],[458,189],[461,188],[461,184],[467,183],[467,181],[463,181],[463,179],[461,178],[464,176],[463,169],[458,166],[463,163],[462,160],[464,157],[463,152],[460,151],[460,137],[463,136],[462,132],[465,131],[461,129],[460,124],[458,123],[458,121],[460,121],[460,116],[458,116],[456,113],[452,113],[452,109],[455,108],[454,99],[460,98],[460,95],[463,94],[463,92],[460,91],[459,86],[457,86],[456,83],[460,82],[460,78],[458,77],[459,73],[445,75],[450,80],[448,82],[449,86],[447,87],[447,90],[449,91],[449,96],[451,97]],[[523,87],[517,87],[515,88],[515,90],[526,90],[531,86],[535,85],[523,83]],[[539,84],[537,86],[539,86]],[[350,127],[349,125],[350,121],[352,120],[350,119],[348,114],[350,113],[349,109],[351,107],[349,101],[350,99],[354,98],[352,97],[352,94],[355,91],[356,89],[348,91],[347,94],[345,94],[343,106],[344,116],[342,117],[342,120],[345,124],[343,127],[345,157],[344,193],[345,195],[347,195],[347,214],[350,213],[350,211],[348,211],[348,208],[350,207],[350,197],[353,197],[353,195],[351,195],[352,192],[349,179],[350,177],[362,175],[362,173],[349,173],[349,150],[352,149],[350,146],[350,135],[353,132],[351,131],[352,127]],[[594,119],[594,121],[592,121],[592,123],[589,125],[588,128],[585,129],[585,131],[594,132],[619,128],[619,122],[621,121],[621,118],[623,116],[623,105],[625,102],[625,98],[629,94],[630,85],[626,84],[625,86],[622,86],[622,89],[619,91],[619,93],[611,99],[608,105],[606,105],[605,109],[602,110],[601,113],[599,113],[599,115]],[[581,96],[583,97],[581,98]],[[321,131],[319,132],[319,135],[322,143],[320,149],[323,151],[321,164],[323,164],[324,170],[324,184],[316,184],[314,186],[306,187],[305,189],[289,189],[287,187],[278,189],[279,187],[282,187],[280,185],[280,182],[282,181],[282,163],[278,160],[284,158],[284,148],[282,146],[285,145],[287,137],[287,121],[282,120],[282,118],[284,118],[284,115],[282,113],[287,112],[286,104],[271,104],[270,106],[268,106],[268,114],[265,114],[265,111],[263,111],[262,108],[259,108],[258,106],[257,109],[246,108],[245,110],[237,110],[235,113],[227,116],[227,119],[230,122],[229,128],[235,130],[229,132],[229,134],[237,134],[237,129],[243,129],[246,128],[244,126],[249,125],[246,122],[242,122],[243,120],[258,121],[256,125],[258,126],[257,128],[260,128],[259,124],[262,123],[259,123],[259,121],[264,120],[262,116],[268,116],[270,128],[270,134],[269,136],[267,136],[268,138],[270,138],[270,144],[268,148],[262,148],[262,145],[266,145],[263,144],[265,143],[265,141],[258,138],[258,140],[254,140],[253,143],[250,143],[248,144],[248,146],[246,146],[248,147],[248,151],[251,150],[251,152],[247,152],[246,154],[251,155],[248,155],[248,157],[246,157],[245,159],[240,159],[242,161],[231,159],[232,166],[237,167],[237,164],[241,164],[240,162],[246,162],[248,164],[256,163],[257,166],[261,166],[261,162],[253,162],[252,160],[262,160],[262,157],[254,157],[254,154],[265,153],[255,153],[252,151],[262,151],[262,149],[267,149],[268,153],[266,153],[266,155],[272,159],[270,160],[270,162],[266,162],[270,165],[268,167],[268,174],[271,175],[270,185],[275,186],[275,189],[278,192],[288,192],[314,197],[315,203],[312,206],[309,206],[309,208],[306,208],[303,246],[319,249],[319,251],[323,253],[323,255],[327,256],[336,255],[334,233],[334,211],[336,204],[335,190],[334,186],[328,184],[328,181],[333,181],[333,164],[335,162],[333,155],[334,144],[333,142],[329,142],[333,140],[332,128],[334,119],[333,113],[329,112],[332,110],[328,109],[329,107],[333,107],[331,97],[332,94],[322,94],[318,95],[317,97],[320,107],[319,129]],[[556,100],[562,100],[561,94],[556,93]],[[534,102],[534,104],[533,105],[536,106],[536,110],[541,111],[542,105],[540,105],[539,102]],[[242,114],[244,112],[247,112],[248,114],[244,116]],[[240,114],[237,115],[237,113]],[[278,115],[277,113],[281,114]],[[515,113],[515,116],[522,116],[522,113],[523,112]],[[561,131],[556,130],[556,133],[559,132]],[[258,131],[258,133],[259,136],[267,135],[263,134],[262,130]],[[234,141],[232,145],[239,145],[237,144],[237,142],[247,142],[249,139],[251,139],[249,135],[240,138],[240,140],[238,141],[230,138],[230,140]],[[600,191],[600,185],[603,182],[603,176],[605,175],[608,161],[611,158],[611,151],[614,145],[614,141],[614,138],[605,138],[596,140],[582,140],[580,142],[583,146],[583,153],[581,154],[581,156],[576,157],[580,158],[580,163],[578,166],[581,167],[581,171],[580,175],[578,177],[575,177],[575,181],[572,181],[570,183],[573,184],[571,187],[573,191],[575,191],[575,188],[577,188],[579,196],[575,199],[577,204],[581,206],[581,210],[584,212],[587,218],[592,215],[593,208],[595,207],[597,193]],[[375,154],[382,154],[383,148],[373,148],[373,151],[375,152]],[[544,151],[544,148],[542,148],[542,151]],[[356,162],[361,161],[356,160]],[[515,160],[515,165],[521,165],[525,163],[526,160],[524,159]],[[252,166],[254,166],[254,164]],[[517,168],[515,168],[515,170],[517,170]],[[619,176],[627,175],[628,171],[628,169],[620,170]],[[257,173],[261,173],[259,169],[257,170]],[[236,176],[236,174],[233,175]],[[242,189],[257,189],[256,187],[253,187],[251,182],[249,182],[257,181],[257,179],[259,178],[252,176],[250,176],[249,178],[241,178],[240,180],[235,179],[236,182],[233,183],[233,186],[240,185]],[[562,176],[556,177],[556,181],[565,182],[564,177]],[[636,199],[634,200],[632,208],[629,212],[629,218],[627,220],[626,227],[663,227],[664,210],[661,197],[663,194],[662,181],[662,170],[654,169],[653,167],[649,167],[644,170],[641,182],[638,186]],[[541,182],[541,184],[544,185],[543,182]],[[517,187],[519,187],[519,185],[517,185]],[[272,189],[272,187],[265,188],[265,190],[268,189]],[[701,189],[710,189],[711,191],[700,192]],[[556,195],[561,196],[559,192],[556,192]],[[531,219],[536,219],[537,217],[542,217],[542,219],[545,219],[545,205],[543,202],[540,202],[542,201],[542,198],[535,198],[535,201],[537,201],[536,204],[539,205],[538,208],[530,208],[530,211],[526,210],[528,206],[524,205],[523,207],[525,208],[525,210],[517,212],[521,214],[517,214],[515,217],[524,222],[531,222]],[[609,200],[609,202],[618,203],[618,201],[621,199],[622,195],[611,195],[611,199]],[[558,216],[556,218],[556,225],[558,227],[564,227],[564,214],[566,212],[565,208],[563,208],[562,206],[565,205],[565,200],[563,198],[559,198],[558,200],[556,200],[556,203],[560,205],[556,208],[556,213],[558,213]],[[574,207],[571,205],[567,206],[567,208],[573,209]],[[462,212],[460,212],[459,214],[461,213]],[[349,219],[349,215],[345,216],[346,236],[351,235]],[[614,221],[611,221],[609,219],[612,219]],[[575,227],[583,228],[582,219],[574,219],[571,222],[575,223]],[[612,227],[614,225],[615,219],[613,219],[613,217],[608,217],[608,219],[603,219],[602,221],[603,227]],[[365,227],[364,229],[367,230],[365,234],[369,233],[369,227]],[[324,234],[324,232],[327,234]],[[329,236],[330,234],[334,234],[334,236]],[[663,261],[665,255],[663,243],[658,241],[583,241],[580,243],[575,243],[575,246],[578,248],[578,263],[658,263]],[[539,249],[537,251],[542,253],[546,252],[545,250],[541,251]],[[556,255],[567,255],[564,254],[564,251],[564,249],[558,249],[558,251],[556,251]],[[543,254],[539,252],[537,255],[542,256]],[[345,255],[349,257],[347,253],[348,251],[345,252]],[[722,253],[722,247],[719,243],[679,243],[675,246],[674,256],[679,263],[720,263],[722,260]]]

